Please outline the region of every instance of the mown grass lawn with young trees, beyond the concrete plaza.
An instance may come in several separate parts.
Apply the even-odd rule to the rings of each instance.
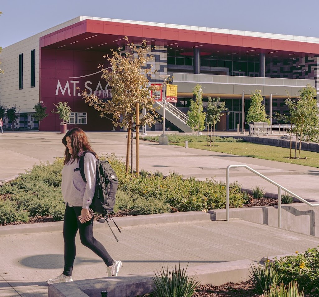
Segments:
[[[185,143],[172,143],[179,146],[185,146]],[[189,142],[189,148],[205,149],[214,152],[253,157],[265,160],[273,160],[291,164],[312,166],[319,168],[319,153],[301,150],[300,159],[290,159],[290,149],[279,148],[270,145],[263,145],[251,142],[215,142],[215,146],[207,146],[207,142]],[[298,157],[299,151],[297,151]],[[292,150],[294,156],[294,149]],[[307,158],[307,159],[303,159]]]

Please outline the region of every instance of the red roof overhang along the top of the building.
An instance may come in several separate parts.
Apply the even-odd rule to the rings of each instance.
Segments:
[[[319,43],[263,38],[200,30],[160,27],[127,22],[84,19],[73,25],[40,37],[40,48],[89,50],[110,53],[129,42],[140,44],[145,39],[151,46],[165,46],[168,54],[192,56],[198,48],[202,56],[259,60],[293,59],[319,55]]]

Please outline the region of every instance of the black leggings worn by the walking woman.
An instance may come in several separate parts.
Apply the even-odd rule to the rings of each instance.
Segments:
[[[101,257],[107,266],[111,266],[114,261],[105,247],[93,237],[93,218],[81,224],[78,216],[81,214],[81,206],[70,207],[66,204],[63,222],[64,239],[64,271],[66,276],[72,275],[73,263],[76,255],[75,236],[79,230],[80,239],[85,247],[91,249],[96,255]]]

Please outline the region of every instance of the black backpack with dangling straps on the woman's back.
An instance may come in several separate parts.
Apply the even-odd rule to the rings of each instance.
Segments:
[[[75,169],[80,171],[82,179],[85,182],[86,182],[86,179],[84,174],[84,156],[86,153],[93,154],[93,152],[91,151],[85,151],[80,156],[80,160],[79,160],[80,168]],[[116,173],[111,167],[111,165],[108,163],[108,161],[107,160],[100,161],[99,159],[96,159],[96,185],[95,185],[95,193],[94,193],[90,207],[94,210],[94,212],[102,214],[104,217],[104,222],[106,221],[107,223],[108,223],[108,213],[110,213],[114,208],[115,194],[117,192],[118,184],[119,184],[119,180],[116,176]],[[116,228],[118,229],[118,231],[121,232],[120,228],[116,225],[112,217],[111,219],[113,223],[115,224]],[[117,237],[115,236],[111,226],[109,224],[108,226],[110,227],[115,239],[119,241]]]

